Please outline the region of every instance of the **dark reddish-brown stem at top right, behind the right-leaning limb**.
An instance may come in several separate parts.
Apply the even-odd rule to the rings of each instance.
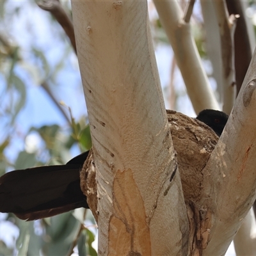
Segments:
[[[240,16],[239,19],[237,19],[236,32],[234,36],[236,88],[238,94],[252,59],[252,49],[254,49],[255,45],[255,35],[251,22],[248,24],[248,26],[246,26],[246,23],[248,23],[248,18],[246,19],[244,4],[247,3],[241,3],[239,0],[226,0],[226,3],[230,15],[239,14]],[[251,33],[253,33],[254,42],[250,42]]]

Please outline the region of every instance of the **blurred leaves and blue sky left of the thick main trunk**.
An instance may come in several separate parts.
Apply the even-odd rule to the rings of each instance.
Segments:
[[[72,155],[92,147],[88,121],[74,114],[73,108],[67,108],[67,104],[72,106],[72,102],[83,99],[74,52],[63,39],[65,33],[56,20],[49,19],[49,13],[40,10],[35,2],[19,5],[1,1],[0,10],[0,175],[14,169],[67,163]],[[31,36],[35,32],[29,28],[33,17],[26,20],[31,12],[40,12],[42,16],[45,32],[51,38],[47,45],[36,36],[33,42],[22,42],[22,33]],[[22,31],[15,28],[13,17],[20,19]],[[61,51],[56,54],[56,49]],[[68,75],[63,79],[65,73],[72,79]],[[68,90],[74,91],[71,97]],[[65,96],[67,100],[61,106]],[[81,102],[84,104],[84,100]],[[0,228],[4,223],[9,229],[17,227],[19,237],[15,243],[8,242],[1,232],[0,255],[13,255],[17,250],[22,256],[71,255],[74,250],[78,255],[97,255],[92,247],[96,232],[92,214],[84,209],[77,211],[80,214],[67,212],[33,222],[1,214]],[[88,230],[87,223],[93,232]]]

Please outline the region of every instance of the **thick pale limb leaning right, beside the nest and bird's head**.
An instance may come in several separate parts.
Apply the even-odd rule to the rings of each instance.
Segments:
[[[203,255],[225,254],[255,200],[255,70],[254,52],[236,104],[204,169],[204,195],[198,207],[209,234]]]

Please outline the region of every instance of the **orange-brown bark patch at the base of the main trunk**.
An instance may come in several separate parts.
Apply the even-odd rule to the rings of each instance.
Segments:
[[[132,170],[118,170],[113,182],[109,255],[151,255],[150,230]]]

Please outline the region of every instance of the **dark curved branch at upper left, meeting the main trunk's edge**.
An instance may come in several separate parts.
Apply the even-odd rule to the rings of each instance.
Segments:
[[[38,6],[47,11],[51,12],[51,14],[55,17],[55,19],[59,22],[61,27],[64,29],[66,35],[70,39],[72,47],[76,52],[76,39],[74,34],[74,26],[67,13],[61,6],[61,3],[58,0],[48,0],[48,1],[40,1],[37,3]]]

